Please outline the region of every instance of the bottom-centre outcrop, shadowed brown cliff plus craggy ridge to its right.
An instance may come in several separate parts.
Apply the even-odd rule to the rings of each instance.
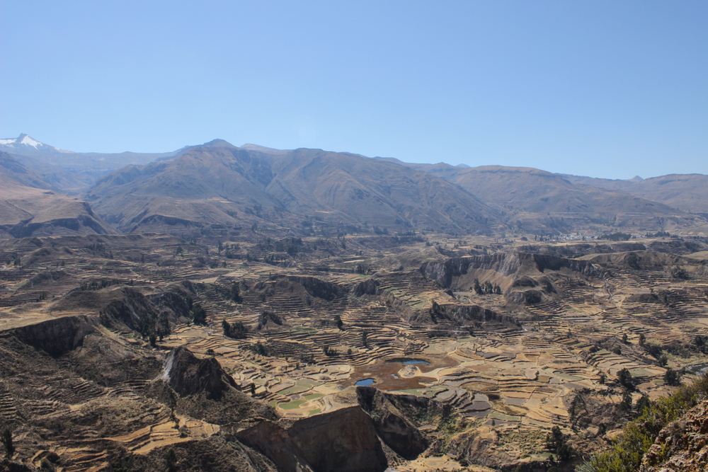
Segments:
[[[236,437],[268,456],[280,471],[384,471],[387,454],[416,459],[426,451],[428,438],[415,418],[438,417],[445,410],[430,398],[373,387],[347,388],[334,402],[343,406],[296,421],[263,421]]]

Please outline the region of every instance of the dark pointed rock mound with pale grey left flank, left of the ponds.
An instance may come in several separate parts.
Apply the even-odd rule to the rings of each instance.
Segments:
[[[236,382],[224,372],[217,359],[198,359],[184,346],[176,347],[167,356],[161,380],[179,396],[204,392],[210,400],[222,398],[224,391],[236,388]]]

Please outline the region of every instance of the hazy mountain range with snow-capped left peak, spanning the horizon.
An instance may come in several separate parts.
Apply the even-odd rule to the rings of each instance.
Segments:
[[[606,180],[535,168],[237,147],[221,139],[161,154],[98,154],[57,149],[22,134],[1,139],[0,150],[33,169],[0,168],[6,179],[83,195],[121,232],[184,234],[253,224],[303,231],[317,221],[450,234],[687,228],[702,234],[708,213],[708,176],[700,174]]]

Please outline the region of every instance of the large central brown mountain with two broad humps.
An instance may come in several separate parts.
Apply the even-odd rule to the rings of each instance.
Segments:
[[[456,185],[394,163],[222,140],[170,161],[122,168],[98,180],[87,199],[121,231],[231,226],[286,213],[334,224],[488,232],[497,215]]]

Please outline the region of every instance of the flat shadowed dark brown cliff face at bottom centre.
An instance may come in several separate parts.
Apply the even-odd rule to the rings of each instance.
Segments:
[[[387,459],[373,420],[358,405],[290,424],[263,421],[236,433],[283,472],[382,472]]]

